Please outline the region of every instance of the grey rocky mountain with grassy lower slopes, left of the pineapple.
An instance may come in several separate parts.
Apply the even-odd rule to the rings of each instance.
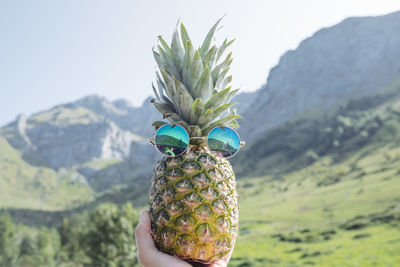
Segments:
[[[137,133],[152,131],[141,113],[149,108],[130,122]],[[119,120],[133,109],[89,96],[0,128],[0,207],[64,209],[146,181],[159,153]]]

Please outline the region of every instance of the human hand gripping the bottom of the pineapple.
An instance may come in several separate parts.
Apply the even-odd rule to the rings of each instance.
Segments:
[[[136,246],[138,249],[139,263],[143,267],[226,267],[228,266],[231,253],[213,264],[189,264],[186,261],[159,251],[150,234],[150,216],[147,210],[140,212],[139,224],[135,231]]]

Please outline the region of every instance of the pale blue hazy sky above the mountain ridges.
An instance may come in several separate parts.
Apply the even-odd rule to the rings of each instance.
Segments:
[[[151,49],[178,19],[198,47],[226,14],[217,43],[236,39],[232,84],[250,92],[319,29],[398,10],[398,0],[2,0],[0,126],[90,94],[141,105],[155,81]]]

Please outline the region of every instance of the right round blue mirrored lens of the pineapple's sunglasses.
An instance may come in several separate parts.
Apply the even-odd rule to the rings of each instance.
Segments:
[[[207,138],[208,147],[217,156],[232,157],[238,152],[240,139],[235,130],[229,127],[216,127]]]

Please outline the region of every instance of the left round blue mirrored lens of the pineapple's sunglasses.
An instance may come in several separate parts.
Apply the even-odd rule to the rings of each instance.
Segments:
[[[189,135],[179,125],[163,125],[158,129],[155,139],[158,150],[169,157],[182,154],[189,144]]]

